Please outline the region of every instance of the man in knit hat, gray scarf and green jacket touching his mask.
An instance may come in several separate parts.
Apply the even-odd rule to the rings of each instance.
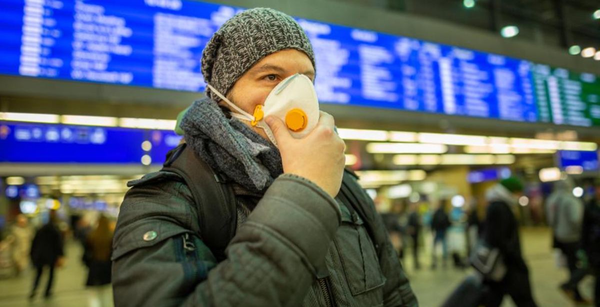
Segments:
[[[418,306],[389,239],[373,243],[385,230],[370,197],[356,191],[373,231],[338,194],[349,177],[331,115],[300,139],[278,118],[266,117],[270,131],[237,119],[287,77],[314,82],[314,67],[302,28],[275,10],[244,11],[214,34],[202,56],[208,98],[181,128],[186,150],[233,188],[235,236],[224,254],[208,247],[192,196],[202,182],[167,171],[132,182],[113,240],[116,306]]]

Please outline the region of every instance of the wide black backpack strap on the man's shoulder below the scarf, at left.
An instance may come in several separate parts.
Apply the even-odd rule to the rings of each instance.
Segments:
[[[163,171],[176,173],[190,188],[199,214],[200,239],[217,261],[225,259],[225,248],[236,230],[236,202],[232,186],[203,161],[187,144],[167,154]]]

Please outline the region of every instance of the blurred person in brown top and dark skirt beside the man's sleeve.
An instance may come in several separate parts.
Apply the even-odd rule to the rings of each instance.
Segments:
[[[86,253],[89,271],[86,286],[92,287],[90,306],[109,306],[106,302],[107,291],[110,288],[103,287],[110,284],[113,231],[109,219],[101,215],[98,226],[89,233],[86,239]]]

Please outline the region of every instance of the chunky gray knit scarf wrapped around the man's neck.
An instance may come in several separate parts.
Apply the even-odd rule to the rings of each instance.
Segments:
[[[279,150],[210,98],[194,101],[180,127],[185,142],[212,169],[253,192],[264,192],[283,173]]]

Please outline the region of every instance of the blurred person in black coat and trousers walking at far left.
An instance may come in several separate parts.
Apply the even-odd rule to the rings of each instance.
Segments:
[[[49,270],[48,283],[44,297],[52,296],[52,284],[54,281],[55,267],[64,264],[64,246],[61,231],[57,226],[58,218],[55,210],[50,210],[49,221],[35,233],[31,243],[31,262],[34,264],[37,274],[29,298],[33,299],[40,284],[40,278],[44,267]]]

